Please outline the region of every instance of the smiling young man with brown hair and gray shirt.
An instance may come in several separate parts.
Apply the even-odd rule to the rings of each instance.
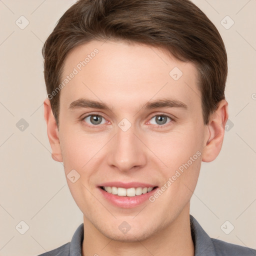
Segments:
[[[43,47],[44,118],[83,213],[41,255],[255,255],[189,215],[228,118],[227,58],[188,0],[79,0]]]

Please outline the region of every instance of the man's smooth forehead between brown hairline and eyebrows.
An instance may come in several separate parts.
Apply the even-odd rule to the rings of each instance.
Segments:
[[[171,96],[189,105],[200,94],[192,63],[161,48],[124,41],[91,41],[74,48],[65,58],[62,81],[66,76],[60,102],[86,96],[127,105],[133,99],[139,103]]]

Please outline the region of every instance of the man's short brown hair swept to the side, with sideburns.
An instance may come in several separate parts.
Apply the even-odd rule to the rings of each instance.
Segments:
[[[42,48],[48,95],[59,85],[71,49],[109,38],[161,47],[179,60],[193,62],[204,124],[225,98],[224,43],[213,23],[189,0],[78,0],[61,16]],[[60,93],[54,94],[50,104],[58,124]]]

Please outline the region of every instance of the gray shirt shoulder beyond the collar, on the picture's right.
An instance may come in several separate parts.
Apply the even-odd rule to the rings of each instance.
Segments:
[[[256,250],[211,238],[216,256],[256,256]]]

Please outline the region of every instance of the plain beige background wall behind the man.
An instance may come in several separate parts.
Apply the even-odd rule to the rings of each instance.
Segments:
[[[56,248],[70,241],[82,222],[63,166],[51,159],[42,106],[41,47],[73,2],[0,0],[0,255],[34,256]],[[191,214],[211,237],[256,248],[256,1],[193,2],[226,45],[230,121],[219,156],[202,163]],[[29,21],[24,29],[21,15]],[[226,15],[234,21],[229,29]],[[28,123],[23,131],[16,126],[21,118]],[[229,234],[220,228],[226,220],[225,231],[234,226]],[[24,234],[15,228],[20,221],[29,226]]]

